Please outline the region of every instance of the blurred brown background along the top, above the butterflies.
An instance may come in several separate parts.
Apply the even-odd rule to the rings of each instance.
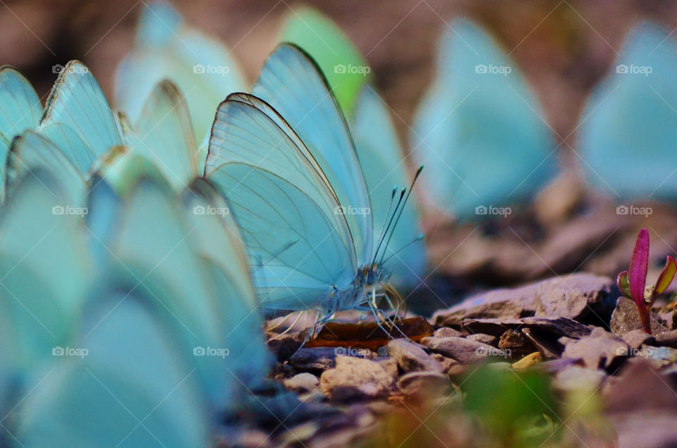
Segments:
[[[435,44],[453,16],[488,26],[511,52],[562,137],[578,120],[585,95],[620,51],[633,20],[652,16],[677,26],[677,1],[642,0],[324,0],[306,1],[327,13],[372,66],[386,100],[405,123],[432,76]],[[85,62],[112,97],[114,70],[133,43],[146,0],[0,1],[0,63],[18,67],[40,95],[51,67]],[[194,27],[219,36],[253,79],[275,44],[291,0],[175,0]],[[569,139],[571,140],[571,139]]]

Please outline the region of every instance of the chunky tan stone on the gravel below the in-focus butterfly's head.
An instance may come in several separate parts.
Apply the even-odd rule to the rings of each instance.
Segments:
[[[371,361],[336,356],[336,367],[325,370],[319,388],[334,401],[374,399],[395,391],[397,363],[394,359]]]

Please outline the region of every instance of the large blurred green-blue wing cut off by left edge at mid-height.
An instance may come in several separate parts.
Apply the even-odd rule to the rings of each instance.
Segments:
[[[51,355],[73,332],[90,282],[81,227],[85,209],[36,169],[16,186],[0,218],[0,314],[8,316],[24,367]]]

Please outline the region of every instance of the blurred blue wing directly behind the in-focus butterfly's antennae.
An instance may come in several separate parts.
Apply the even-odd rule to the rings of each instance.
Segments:
[[[388,212],[393,186],[408,187],[412,176],[407,173],[389,111],[370,85],[358,97],[352,131],[360,164],[365,168],[374,232],[378,234]],[[417,286],[422,281],[426,255],[425,244],[417,239],[420,234],[417,203],[411,195],[385,251],[386,270],[392,273],[392,282],[398,286]]]

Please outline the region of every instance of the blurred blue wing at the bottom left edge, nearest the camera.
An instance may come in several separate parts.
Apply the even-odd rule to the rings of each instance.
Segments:
[[[208,446],[212,416],[171,326],[135,293],[99,291],[90,305],[83,334],[28,382],[21,446]]]

